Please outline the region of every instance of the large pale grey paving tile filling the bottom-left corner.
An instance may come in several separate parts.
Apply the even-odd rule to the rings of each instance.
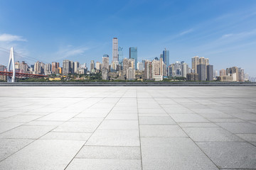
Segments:
[[[0,162],[0,169],[65,169],[82,141],[36,140]]]

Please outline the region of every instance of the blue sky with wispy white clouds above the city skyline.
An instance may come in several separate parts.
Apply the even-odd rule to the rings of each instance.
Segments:
[[[138,61],[169,50],[170,63],[207,57],[214,69],[242,67],[256,77],[255,0],[1,0],[0,64],[9,49],[28,64],[112,60],[112,38]],[[7,49],[7,50],[6,50]]]

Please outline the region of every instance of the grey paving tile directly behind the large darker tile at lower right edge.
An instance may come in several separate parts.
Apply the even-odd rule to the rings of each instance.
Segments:
[[[195,142],[243,142],[240,137],[233,135],[223,128],[183,128]]]

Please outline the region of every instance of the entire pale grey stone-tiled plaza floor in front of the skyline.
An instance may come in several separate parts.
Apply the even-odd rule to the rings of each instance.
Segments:
[[[0,169],[256,169],[255,86],[6,86],[0,98]]]

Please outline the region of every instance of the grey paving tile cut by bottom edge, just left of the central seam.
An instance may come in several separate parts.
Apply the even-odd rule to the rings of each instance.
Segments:
[[[142,162],[137,159],[73,159],[67,170],[140,170]]]

